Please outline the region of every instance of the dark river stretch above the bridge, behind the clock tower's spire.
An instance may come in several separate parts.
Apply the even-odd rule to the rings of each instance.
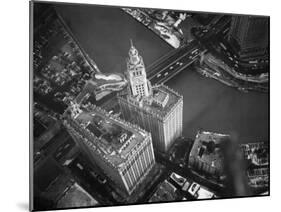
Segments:
[[[124,72],[130,39],[150,64],[173,48],[119,8],[58,5],[81,46],[102,72]]]

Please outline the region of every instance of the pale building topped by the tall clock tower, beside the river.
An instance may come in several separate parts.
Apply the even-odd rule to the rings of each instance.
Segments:
[[[164,85],[151,86],[145,65],[131,43],[127,90],[118,94],[124,119],[151,133],[153,146],[166,152],[182,134],[183,97]]]

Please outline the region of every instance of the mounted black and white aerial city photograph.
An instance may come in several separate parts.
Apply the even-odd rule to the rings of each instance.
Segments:
[[[269,16],[29,14],[30,210],[270,195]]]

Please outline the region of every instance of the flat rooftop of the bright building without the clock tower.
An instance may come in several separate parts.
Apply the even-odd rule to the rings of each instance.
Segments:
[[[122,165],[128,154],[149,136],[138,126],[92,105],[83,109],[74,120],[93,136],[94,139],[89,139],[90,146],[114,166]]]

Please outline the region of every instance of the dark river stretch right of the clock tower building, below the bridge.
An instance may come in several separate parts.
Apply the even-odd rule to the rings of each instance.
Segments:
[[[268,94],[243,93],[216,80],[204,78],[192,68],[167,83],[184,96],[184,134],[198,128],[232,133],[242,143],[268,140]]]

